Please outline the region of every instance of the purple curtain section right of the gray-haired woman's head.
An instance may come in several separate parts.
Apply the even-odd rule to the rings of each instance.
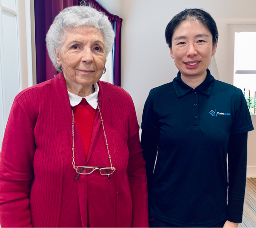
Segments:
[[[121,24],[123,19],[109,13],[107,9],[100,5],[96,0],[79,0],[79,5],[88,5],[97,9],[99,12],[104,12],[112,23],[112,27],[116,34],[113,47],[113,78],[114,85],[121,86]]]

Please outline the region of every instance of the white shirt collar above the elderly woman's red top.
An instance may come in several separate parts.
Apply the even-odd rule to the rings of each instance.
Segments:
[[[97,83],[93,84],[94,86],[94,93],[90,94],[89,96],[84,97],[85,100],[88,102],[89,105],[91,105],[93,107],[93,109],[97,108],[97,100],[98,100],[98,93],[99,93],[99,86]],[[75,95],[73,93],[70,93],[70,91],[68,91],[69,94],[69,98],[70,98],[70,105],[72,107],[74,107],[75,105],[78,105],[82,98],[81,96]]]

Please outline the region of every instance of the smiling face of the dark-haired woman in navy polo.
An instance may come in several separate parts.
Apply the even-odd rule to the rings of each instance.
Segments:
[[[170,50],[182,76],[203,76],[216,46],[211,32],[201,22],[184,21],[173,33]]]

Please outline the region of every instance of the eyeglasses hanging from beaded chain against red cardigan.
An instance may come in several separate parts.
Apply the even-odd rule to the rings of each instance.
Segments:
[[[94,170],[99,169],[100,174],[102,176],[107,176],[110,178],[109,175],[113,174],[116,170],[115,167],[101,167],[101,166],[77,166],[75,167],[75,171],[78,173],[75,180],[79,177],[79,174],[85,174],[88,175],[92,173]]]

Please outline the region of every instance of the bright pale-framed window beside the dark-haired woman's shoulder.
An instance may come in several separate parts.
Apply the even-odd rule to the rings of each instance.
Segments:
[[[256,114],[256,25],[229,25],[229,41],[233,51],[228,55],[233,62],[233,85],[240,88],[252,115]]]

